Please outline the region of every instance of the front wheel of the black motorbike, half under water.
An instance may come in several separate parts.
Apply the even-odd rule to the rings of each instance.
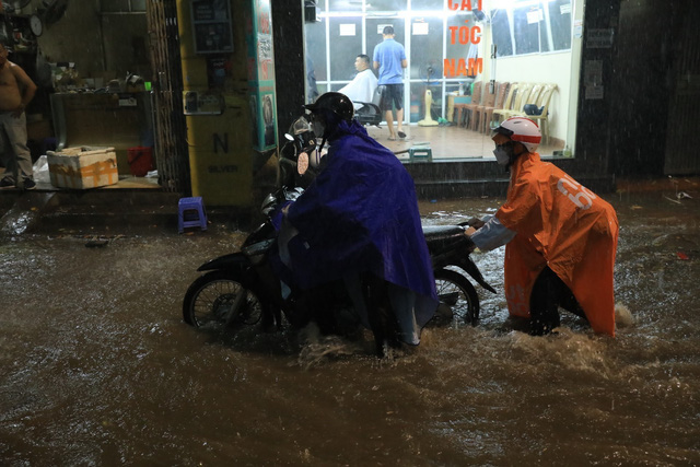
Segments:
[[[231,271],[200,276],[185,293],[183,318],[197,328],[255,325],[262,317],[258,294]]]

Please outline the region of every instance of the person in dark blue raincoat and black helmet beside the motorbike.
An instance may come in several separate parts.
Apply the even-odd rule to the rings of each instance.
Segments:
[[[353,119],[346,95],[325,93],[305,107],[320,148],[330,148],[314,182],[284,208],[280,257],[303,290],[345,281],[375,338],[375,304],[388,301],[398,339],[418,345],[439,302],[413,180]],[[384,296],[365,294],[363,306],[357,299],[368,280]]]

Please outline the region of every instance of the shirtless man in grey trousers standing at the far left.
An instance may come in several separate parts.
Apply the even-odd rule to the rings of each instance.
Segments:
[[[0,159],[5,167],[1,188],[36,188],[24,113],[35,93],[34,81],[22,67],[8,60],[8,49],[0,43]]]

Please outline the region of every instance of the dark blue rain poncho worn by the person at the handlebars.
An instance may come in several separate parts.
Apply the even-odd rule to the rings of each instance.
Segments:
[[[310,289],[370,271],[416,293],[419,327],[438,307],[416,188],[396,155],[357,121],[329,138],[324,168],[293,202],[287,245],[294,281]]]

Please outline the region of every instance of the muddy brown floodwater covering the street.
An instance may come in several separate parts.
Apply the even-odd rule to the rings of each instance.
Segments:
[[[5,238],[0,465],[700,464],[697,195],[606,197],[621,227],[616,339],[567,314],[557,336],[514,330],[500,249],[474,256],[499,290],[479,291],[477,327],[428,328],[383,360],[369,336],[185,325],[196,268],[241,232]],[[448,224],[500,201],[421,211]]]

